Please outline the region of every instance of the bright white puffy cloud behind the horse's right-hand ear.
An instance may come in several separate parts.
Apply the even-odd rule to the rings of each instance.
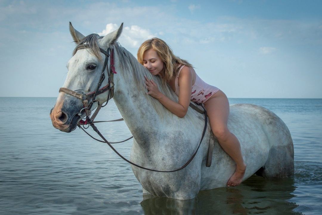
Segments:
[[[105,29],[98,33],[99,35],[105,36],[106,34],[111,33],[112,31],[117,30],[119,25],[109,23],[106,25]],[[138,48],[142,41],[145,41],[147,39],[151,39],[152,37],[155,37],[155,34],[150,33],[149,30],[141,28],[137,25],[131,25],[131,27],[123,27],[122,34],[118,41],[124,46],[124,47],[132,47],[132,48]]]

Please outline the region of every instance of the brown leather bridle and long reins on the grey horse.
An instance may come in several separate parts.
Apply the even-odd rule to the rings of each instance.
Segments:
[[[83,49],[83,48],[90,48],[89,45],[87,44],[81,44],[81,45],[78,45],[77,46],[77,50],[79,49]],[[109,100],[113,97],[114,95],[114,82],[113,82],[113,75],[116,74],[116,71],[115,71],[115,67],[114,67],[114,50],[110,50],[110,48],[107,49],[107,51],[105,51],[104,49],[102,48],[99,48],[100,52],[105,54],[105,61],[104,61],[104,66],[103,66],[103,69],[102,69],[102,73],[101,73],[101,76],[100,76],[100,79],[99,79],[99,83],[98,83],[98,86],[96,88],[96,91],[94,92],[91,92],[91,93],[77,93],[75,91],[72,91],[70,89],[67,89],[67,88],[64,88],[64,87],[61,87],[59,89],[59,92],[63,92],[63,93],[67,93],[71,96],[74,96],[78,99],[80,99],[83,104],[84,104],[84,108],[81,109],[80,113],[78,113],[77,115],[79,115],[80,117],[82,117],[82,111],[84,110],[85,111],[85,114],[86,114],[86,121],[83,121],[81,120],[80,122],[78,122],[77,126],[79,128],[81,128],[84,132],[86,132],[84,129],[87,129],[89,126],[91,126],[93,128],[93,130],[103,139],[103,141],[101,140],[98,140],[96,138],[94,138],[93,136],[91,136],[88,132],[86,132],[91,138],[99,141],[99,142],[104,142],[104,143],[107,143],[109,145],[109,147],[118,155],[120,156],[124,161],[136,166],[136,167],[139,167],[141,169],[144,169],[144,170],[149,170],[149,171],[155,171],[155,172],[175,172],[175,171],[179,171],[179,170],[182,170],[184,169],[186,166],[188,166],[188,164],[194,159],[194,156],[197,154],[198,152],[198,149],[201,145],[201,142],[203,141],[204,139],[204,134],[206,132],[206,129],[207,129],[207,112],[206,112],[206,109],[201,105],[201,107],[204,109],[204,112],[201,112],[198,108],[196,108],[193,104],[190,103],[189,106],[191,106],[192,108],[194,108],[196,111],[200,112],[200,113],[204,113],[204,116],[205,116],[205,123],[204,123],[204,131],[202,133],[202,137],[201,137],[201,140],[199,142],[199,145],[198,145],[198,148],[196,149],[196,151],[194,152],[194,154],[191,156],[191,158],[189,159],[189,161],[187,161],[182,167],[180,167],[179,169],[176,169],[176,170],[171,170],[171,171],[161,171],[161,170],[153,170],[153,169],[149,169],[149,168],[146,168],[146,167],[142,167],[140,165],[137,165],[136,163],[133,163],[131,161],[129,161],[128,159],[126,159],[125,157],[123,157],[118,151],[116,151],[116,149],[111,145],[111,143],[119,143],[119,142],[108,142],[104,136],[99,132],[99,130],[97,129],[97,127],[94,125],[94,123],[96,122],[115,122],[115,121],[122,121],[123,119],[118,119],[118,120],[111,120],[111,121],[93,121],[94,118],[96,117],[96,115],[98,114],[99,110],[101,107],[105,107],[107,105],[107,103],[109,102]],[[109,54],[110,52],[110,54]],[[109,61],[109,56],[111,56],[111,59],[110,59],[110,66],[108,66],[108,61]],[[102,85],[104,79],[105,79],[105,68],[107,69],[107,72],[108,72],[108,84],[102,88],[100,88],[100,86]],[[110,68],[110,69],[109,69]],[[96,96],[99,95],[99,94],[102,94],[106,91],[109,91],[108,92],[108,96],[107,96],[107,102],[105,105],[102,105],[99,103],[98,100],[96,100]],[[90,101],[90,102],[89,102]],[[90,109],[92,107],[92,105],[97,102],[98,103],[98,106],[96,108],[96,111],[94,112],[94,114],[92,115],[92,117],[90,117],[91,115],[91,112],[90,112]],[[85,119],[85,118],[82,118],[82,119]],[[89,124],[89,126],[87,128],[84,127],[84,125],[87,125]],[[81,125],[83,126],[83,128],[81,127]],[[120,142],[125,142],[129,139],[133,138],[130,137],[124,141],[120,141]]]

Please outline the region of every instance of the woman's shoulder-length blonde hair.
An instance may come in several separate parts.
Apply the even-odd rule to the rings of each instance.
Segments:
[[[162,76],[163,82],[168,82],[175,76],[178,71],[178,65],[186,65],[189,67],[193,67],[191,64],[188,63],[186,60],[182,60],[179,57],[175,56],[172,52],[172,49],[159,38],[152,38],[150,40],[145,41],[141,44],[140,48],[137,50],[137,60],[140,64],[143,65],[143,55],[149,49],[153,49],[159,55],[165,66],[163,67],[164,74]]]

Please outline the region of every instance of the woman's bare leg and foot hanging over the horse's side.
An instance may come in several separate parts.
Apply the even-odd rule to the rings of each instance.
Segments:
[[[225,93],[219,90],[204,103],[209,117],[213,134],[218,139],[223,150],[236,162],[236,171],[227,182],[227,186],[237,186],[242,182],[246,164],[242,158],[242,151],[237,137],[228,127],[229,102]]]

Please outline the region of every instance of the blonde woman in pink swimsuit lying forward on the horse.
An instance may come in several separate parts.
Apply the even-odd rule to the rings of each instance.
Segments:
[[[168,83],[177,94],[178,103],[160,93],[156,83],[146,78],[148,94],[159,100],[169,111],[182,118],[188,111],[190,100],[204,104],[213,134],[223,150],[236,162],[236,171],[228,180],[227,186],[239,185],[246,164],[238,139],[227,127],[229,102],[225,93],[201,80],[193,66],[175,56],[166,42],[159,38],[152,38],[141,44],[137,59],[151,74],[159,75],[163,83]]]

